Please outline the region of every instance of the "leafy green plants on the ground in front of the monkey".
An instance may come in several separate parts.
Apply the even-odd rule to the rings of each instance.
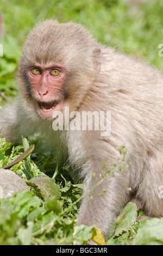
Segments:
[[[16,162],[11,169],[21,175],[31,187],[31,191],[0,199],[0,244],[86,245],[87,240],[92,239],[98,245],[104,245],[103,234],[96,226],[76,227],[78,203],[85,196],[81,195],[82,184],[72,184],[62,174],[60,182],[40,172],[30,155],[24,159],[22,151],[28,152],[31,147],[26,138],[22,138],[22,141],[23,146],[15,148],[11,143],[5,142],[5,139],[0,139],[1,167],[18,157],[20,162]],[[115,167],[118,166],[120,172],[123,172],[121,162],[126,157],[124,147],[120,148],[120,153],[122,159],[112,164],[111,170],[106,170],[95,187],[108,175],[114,175]],[[163,244],[162,225],[163,218],[137,221],[137,206],[130,202],[117,217],[106,245]],[[148,236],[142,239],[148,229]]]

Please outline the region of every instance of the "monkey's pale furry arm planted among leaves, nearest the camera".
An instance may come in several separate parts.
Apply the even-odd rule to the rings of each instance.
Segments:
[[[85,196],[80,206],[77,224],[96,224],[107,239],[117,214],[127,201],[129,187],[129,171],[125,168],[127,158],[123,160],[123,154],[120,154],[118,147],[114,147],[111,141],[106,142],[107,138],[95,139],[93,133],[88,133],[89,136],[86,136],[86,132],[83,131],[83,137],[86,136],[83,140],[82,135],[79,135],[81,136],[79,140],[73,133],[73,139],[69,141],[70,155],[73,157],[70,161],[77,161],[76,164],[81,166],[81,161],[85,159],[81,172],[85,177],[83,191]],[[124,169],[123,173],[120,172],[120,168]]]

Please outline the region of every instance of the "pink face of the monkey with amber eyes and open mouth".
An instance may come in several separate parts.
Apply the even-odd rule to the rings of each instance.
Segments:
[[[43,118],[52,118],[61,111],[64,100],[65,70],[54,66],[30,66],[27,70],[36,111]]]

